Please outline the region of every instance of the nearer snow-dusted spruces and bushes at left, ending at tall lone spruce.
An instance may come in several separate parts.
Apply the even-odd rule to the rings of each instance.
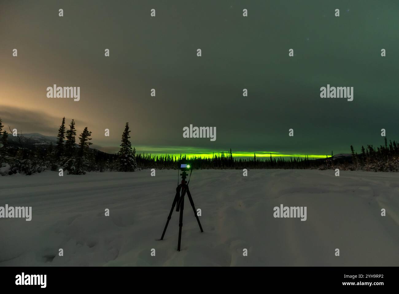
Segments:
[[[122,143],[117,154],[108,154],[89,148],[91,131],[85,127],[77,137],[75,121],[65,127],[65,117],[58,129],[57,141],[47,148],[38,146],[27,148],[23,135],[18,135],[18,146],[8,144],[8,133],[2,131],[4,125],[0,118],[0,174],[12,175],[24,173],[32,175],[46,169],[62,169],[70,175],[84,175],[87,171],[134,171],[137,169],[136,149],[131,146],[129,124],[126,123],[122,133]],[[11,130],[10,130],[11,131]]]

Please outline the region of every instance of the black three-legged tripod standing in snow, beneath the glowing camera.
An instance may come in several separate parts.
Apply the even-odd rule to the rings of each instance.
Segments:
[[[194,206],[193,197],[191,197],[190,190],[188,189],[188,183],[186,181],[187,173],[185,171],[183,171],[180,175],[182,176],[182,183],[180,185],[178,185],[177,188],[176,188],[176,195],[175,195],[175,198],[173,200],[172,208],[170,209],[170,213],[168,215],[168,220],[166,221],[164,232],[162,233],[162,237],[161,237],[161,240],[163,240],[164,236],[165,236],[166,228],[168,227],[170,218],[172,217],[173,209],[174,209],[174,207],[176,205],[176,211],[180,211],[180,217],[179,217],[179,240],[178,240],[178,243],[177,243],[177,250],[178,251],[180,251],[180,242],[182,240],[184,196],[186,195],[186,193],[187,193],[188,199],[190,200],[191,207],[193,208],[194,215],[196,216],[196,219],[197,219],[197,222],[198,222],[198,225],[199,225],[199,229],[201,230],[201,232],[203,232],[203,229],[202,229],[202,226],[201,226],[201,222],[199,222],[197,211],[196,211],[196,208]],[[182,193],[179,196],[180,190],[182,191]]]

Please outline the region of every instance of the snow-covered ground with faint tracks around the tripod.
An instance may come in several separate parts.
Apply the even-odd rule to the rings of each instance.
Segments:
[[[334,173],[194,170],[204,232],[186,199],[180,252],[176,211],[158,240],[177,171],[0,177],[0,206],[32,206],[0,219],[0,266],[399,266],[399,174]],[[280,204],[307,220],[274,218]]]

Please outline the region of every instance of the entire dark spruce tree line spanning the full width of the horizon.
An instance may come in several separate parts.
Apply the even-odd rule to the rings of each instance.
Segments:
[[[188,157],[180,155],[136,154],[130,143],[129,124],[126,123],[122,133],[120,150],[109,154],[91,149],[91,131],[85,127],[77,137],[75,121],[65,126],[65,117],[58,129],[57,141],[45,149],[36,146],[34,149],[24,147],[23,136],[18,136],[18,147],[8,144],[8,133],[3,130],[0,118],[0,174],[40,173],[46,169],[67,171],[72,175],[84,175],[88,171],[123,171],[137,169],[177,169],[179,163],[189,162],[193,169],[344,169],[366,171],[399,171],[399,144],[385,138],[385,144],[377,147],[367,145],[356,153],[350,146],[352,157],[327,157],[309,159],[304,157],[270,157],[233,158],[230,151],[213,154],[212,157]],[[331,154],[332,155],[332,154]]]

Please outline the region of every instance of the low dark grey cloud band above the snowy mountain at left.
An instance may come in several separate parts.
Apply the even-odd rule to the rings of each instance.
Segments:
[[[61,125],[62,117],[54,117],[44,111],[28,110],[18,107],[0,105],[0,117],[5,129],[18,129],[23,133],[41,133],[47,136],[56,136]],[[65,117],[67,125],[72,118]],[[75,120],[76,125],[84,125],[85,122]]]

